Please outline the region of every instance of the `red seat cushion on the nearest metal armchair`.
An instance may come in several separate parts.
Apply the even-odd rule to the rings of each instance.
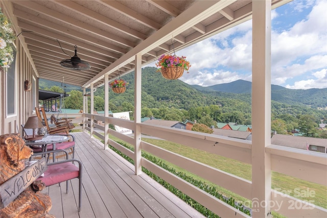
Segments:
[[[37,180],[42,180],[45,186],[50,186],[77,178],[78,176],[79,168],[72,162],[66,162],[48,166],[48,169],[44,172],[44,176],[39,177]]]

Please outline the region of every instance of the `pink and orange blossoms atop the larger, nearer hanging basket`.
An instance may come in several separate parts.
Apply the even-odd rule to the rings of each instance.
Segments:
[[[186,71],[188,71],[188,73],[191,67],[190,62],[186,61],[186,57],[178,57],[176,55],[161,55],[155,65],[159,68],[179,66],[183,67]]]

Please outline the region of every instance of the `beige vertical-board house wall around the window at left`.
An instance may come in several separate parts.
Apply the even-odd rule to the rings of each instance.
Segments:
[[[11,66],[14,67],[14,66]],[[19,39],[16,39],[16,65],[15,65],[15,113],[7,116],[7,75],[6,70],[2,69],[0,75],[0,95],[1,95],[1,114],[0,114],[0,133],[21,133],[21,124],[25,124],[29,116],[35,114],[33,108],[33,97],[35,104],[38,104],[38,92],[34,95],[33,90],[38,90],[38,78],[30,63],[24,48]],[[35,82],[33,82],[33,77]],[[28,80],[35,86],[31,91],[25,91],[24,82]]]

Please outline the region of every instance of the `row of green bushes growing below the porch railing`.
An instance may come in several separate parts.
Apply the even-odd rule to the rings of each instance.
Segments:
[[[127,146],[127,144],[125,144],[123,142],[120,142],[120,141],[117,141],[117,142],[120,143],[122,146],[130,149],[131,151],[134,151],[134,148],[132,148],[130,146]],[[130,163],[134,164],[134,160],[133,159],[129,158],[127,155],[123,154],[119,150],[117,150],[114,147],[110,146],[110,144],[109,144],[109,148],[112,149],[117,154],[119,154],[120,156],[122,156],[123,158],[125,158],[126,160],[128,160]],[[247,215],[250,215],[250,211],[248,209],[244,208],[242,204],[235,203],[235,199],[233,199],[233,198],[225,198],[219,192],[217,192],[216,187],[210,186],[210,185],[208,185],[208,184],[206,184],[206,183],[204,183],[204,182],[202,182],[200,180],[196,180],[196,179],[194,179],[191,176],[187,176],[185,173],[177,172],[174,168],[169,167],[162,160],[157,159],[154,156],[149,155],[149,154],[147,154],[145,152],[142,152],[142,157],[144,157],[147,160],[151,161],[152,163],[154,163],[154,164],[156,164],[156,165],[158,165],[158,166],[166,169],[170,173],[178,176],[179,178],[181,178],[181,179],[183,179],[183,180],[185,180],[185,181],[193,184],[194,186],[196,186],[196,187],[204,190],[205,192],[207,192],[210,195],[218,198],[219,200],[221,200],[221,201],[223,201],[223,202],[231,205],[232,207],[235,207],[238,210],[246,213]],[[215,218],[218,218],[219,217],[217,214],[215,214],[211,210],[205,208],[203,205],[199,204],[198,202],[196,202],[195,200],[193,200],[189,196],[185,195],[183,192],[181,192],[180,190],[178,190],[177,188],[175,188],[174,186],[172,186],[171,184],[169,184],[165,180],[161,179],[157,175],[153,174],[148,169],[142,167],[142,171],[145,174],[147,174],[149,177],[151,177],[152,179],[154,179],[156,182],[158,182],[159,184],[161,184],[162,186],[164,186],[165,188],[167,188],[168,190],[170,190],[178,198],[182,199],[184,202],[188,203],[190,206],[192,206],[197,211],[199,211],[200,213],[202,213],[204,216],[206,216],[206,217],[215,217]]]

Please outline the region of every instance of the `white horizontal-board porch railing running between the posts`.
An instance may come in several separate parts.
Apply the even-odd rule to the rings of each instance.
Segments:
[[[251,157],[251,141],[241,139],[231,139],[223,136],[216,136],[206,133],[193,132],[188,130],[179,130],[175,128],[160,127],[150,124],[135,124],[133,121],[113,117],[104,117],[101,115],[83,114],[86,118],[84,128],[90,131],[90,136],[96,135],[105,141],[105,136],[94,130],[97,128],[104,132],[105,128],[101,125],[91,123],[89,120],[101,120],[105,125],[113,124],[124,127],[135,132],[136,127],[142,134],[169,140],[184,146],[199,149],[208,153],[213,153],[228,157],[234,160],[242,161],[248,164],[255,164]],[[135,146],[133,137],[121,134],[109,129],[106,134],[111,134],[121,140]],[[128,157],[135,160],[134,152],[121,146],[121,144],[108,139],[109,144],[118,149]],[[108,145],[105,145],[108,148]],[[141,141],[142,150],[149,152],[161,159],[169,161],[187,171],[198,175],[212,183],[226,188],[237,195],[252,201],[255,204],[266,204],[271,210],[283,214],[287,217],[327,217],[327,210],[311,204],[306,201],[288,196],[285,193],[276,190],[270,191],[270,202],[252,199],[252,183],[249,180],[240,178],[223,172],[217,168],[197,162],[190,158],[172,153],[165,149],[154,146],[153,144]],[[139,152],[135,150],[135,152]],[[314,182],[321,185],[327,185],[327,155],[318,152],[311,152],[282,146],[271,145],[266,148],[266,153],[271,158],[271,171],[283,173],[288,176],[296,177],[302,180]],[[180,179],[179,177],[167,172],[165,169],[153,164],[145,158],[141,159],[141,164],[151,172],[166,180],[168,183],[193,198],[204,207],[212,210],[221,217],[248,217],[236,208],[216,199],[205,191],[194,185]],[[136,167],[135,167],[136,168]]]

